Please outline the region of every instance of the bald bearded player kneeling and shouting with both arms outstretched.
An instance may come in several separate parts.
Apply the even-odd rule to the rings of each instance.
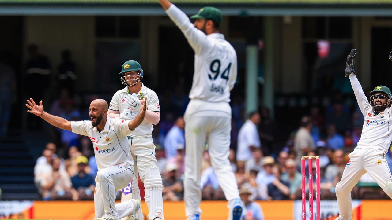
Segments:
[[[107,117],[107,102],[95,99],[90,104],[91,121],[67,121],[44,112],[42,101],[36,105],[27,100],[27,112],[37,115],[58,128],[88,136],[93,142],[94,155],[98,166],[95,178],[94,209],[97,220],[119,220],[126,215],[134,216],[140,208],[135,199],[115,204],[117,189],[122,189],[132,179],[131,151],[127,135],[139,126],[145,116],[145,101],[140,106],[140,114],[132,121]]]

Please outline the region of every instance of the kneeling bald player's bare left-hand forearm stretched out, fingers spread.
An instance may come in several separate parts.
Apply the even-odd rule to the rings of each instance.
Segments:
[[[42,100],[40,101],[40,105],[37,105],[37,104],[35,104],[34,100],[32,98],[30,98],[30,100],[27,100],[26,106],[27,106],[27,108],[30,109],[30,110],[27,110],[27,112],[41,117],[42,119],[47,121],[49,124],[56,126],[58,128],[61,128],[63,130],[72,131],[70,121],[67,121],[62,117],[51,115],[51,114],[44,111],[44,105],[42,105]]]

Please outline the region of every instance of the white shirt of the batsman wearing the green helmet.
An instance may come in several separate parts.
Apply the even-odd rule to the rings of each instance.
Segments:
[[[122,113],[127,108],[127,105],[125,104],[125,97],[127,94],[129,94],[128,87],[118,90],[113,95],[112,101],[109,104],[109,109],[118,111],[118,113]],[[158,96],[154,91],[145,87],[143,83],[142,88],[138,92],[137,96],[140,100],[144,99],[145,97],[147,98],[147,110],[152,112],[160,112]],[[133,138],[152,137],[152,130],[154,130],[152,123],[144,119],[142,124],[135,128],[135,130],[130,133],[129,136]]]

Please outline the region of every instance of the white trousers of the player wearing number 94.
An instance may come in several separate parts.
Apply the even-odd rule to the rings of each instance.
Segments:
[[[207,112],[185,113],[184,200],[188,218],[201,213],[200,166],[206,142],[209,146],[212,167],[226,199],[240,198],[237,181],[228,158],[231,116],[225,113],[212,113],[214,116],[206,116],[206,114],[211,115]]]

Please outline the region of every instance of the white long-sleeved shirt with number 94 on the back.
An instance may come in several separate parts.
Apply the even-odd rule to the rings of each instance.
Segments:
[[[198,30],[188,16],[172,4],[166,10],[181,29],[195,52],[194,75],[190,99],[208,102],[230,102],[230,91],[237,79],[237,54],[225,36],[208,36]]]

